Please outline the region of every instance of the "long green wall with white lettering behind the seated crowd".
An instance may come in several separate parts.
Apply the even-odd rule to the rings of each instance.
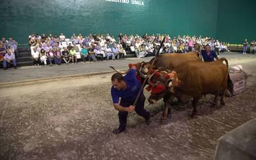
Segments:
[[[13,36],[22,44],[30,33],[216,35],[218,0],[143,0],[143,3],[144,6],[105,0],[1,1],[0,36]],[[205,6],[211,10],[202,13]]]

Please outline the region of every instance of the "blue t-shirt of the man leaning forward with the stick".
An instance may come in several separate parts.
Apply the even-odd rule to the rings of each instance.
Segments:
[[[113,86],[111,88],[111,95],[114,104],[118,103],[119,98],[125,101],[134,102],[140,92],[141,84],[136,78],[136,70],[129,70],[129,72],[124,76],[124,80],[127,85],[126,89],[116,90]]]

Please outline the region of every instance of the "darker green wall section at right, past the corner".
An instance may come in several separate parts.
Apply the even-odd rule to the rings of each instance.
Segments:
[[[220,0],[216,33],[219,40],[232,44],[256,40],[256,1]]]

